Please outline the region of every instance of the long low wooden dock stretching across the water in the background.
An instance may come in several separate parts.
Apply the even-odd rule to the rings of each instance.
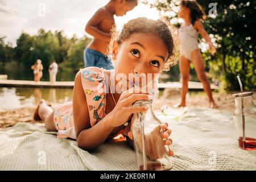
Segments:
[[[31,87],[31,88],[73,88],[74,82],[73,81],[56,81],[56,82],[49,82],[49,81],[28,81],[28,80],[0,80],[0,86],[7,86],[7,87]],[[212,89],[219,89],[218,86],[211,84],[210,87]],[[181,83],[180,82],[166,82],[166,83],[159,83],[159,89],[180,89]],[[188,82],[188,88],[191,90],[203,90],[203,85],[201,82]]]

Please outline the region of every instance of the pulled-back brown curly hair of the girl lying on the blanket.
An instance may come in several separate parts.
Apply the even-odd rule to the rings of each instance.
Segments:
[[[117,41],[118,44],[122,44],[126,39],[130,38],[132,34],[141,32],[146,34],[152,33],[159,36],[168,49],[168,57],[164,61],[164,66],[162,69],[162,71],[168,71],[177,63],[177,48],[174,46],[174,44],[176,44],[176,39],[173,39],[173,31],[170,27],[170,22],[167,22],[165,19],[152,20],[144,17],[132,19],[124,24],[120,34],[118,34],[116,27],[114,26],[112,28],[112,39],[110,40],[108,52],[110,55],[112,54],[114,40]]]

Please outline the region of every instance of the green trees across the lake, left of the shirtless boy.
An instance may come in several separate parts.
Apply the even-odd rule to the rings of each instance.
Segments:
[[[5,38],[0,38],[0,63],[17,61],[20,66],[30,68],[37,59],[42,60],[45,71],[52,59],[60,64],[60,69],[77,71],[84,67],[83,51],[90,38],[71,39],[63,35],[63,31],[45,31],[40,29],[36,35],[25,32],[16,40],[16,47],[5,44]]]

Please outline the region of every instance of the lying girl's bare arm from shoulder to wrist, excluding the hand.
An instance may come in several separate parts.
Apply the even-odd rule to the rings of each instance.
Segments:
[[[73,90],[73,117],[77,137],[77,145],[88,151],[94,150],[104,143],[114,127],[110,126],[111,119],[106,115],[97,125],[90,126],[89,110],[86,96],[82,88],[81,72],[75,78]]]

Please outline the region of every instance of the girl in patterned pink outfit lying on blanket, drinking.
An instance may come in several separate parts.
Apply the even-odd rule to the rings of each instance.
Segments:
[[[153,97],[152,93],[142,89],[141,83],[136,85],[134,78],[168,71],[175,64],[172,59],[174,40],[162,20],[133,19],[125,24],[119,35],[115,31],[112,34],[109,52],[115,61],[115,69],[80,69],[75,77],[72,102],[52,110],[42,100],[34,113],[34,119],[43,120],[47,130],[58,131],[59,138],[76,139],[77,145],[88,151],[119,134],[133,146],[130,131],[133,113],[144,112],[148,108],[132,104]],[[118,75],[126,79],[118,82]],[[165,142],[159,144],[170,146],[171,130],[167,123],[162,125],[162,129]],[[154,135],[149,137],[154,138]],[[167,153],[174,155],[171,149]]]

